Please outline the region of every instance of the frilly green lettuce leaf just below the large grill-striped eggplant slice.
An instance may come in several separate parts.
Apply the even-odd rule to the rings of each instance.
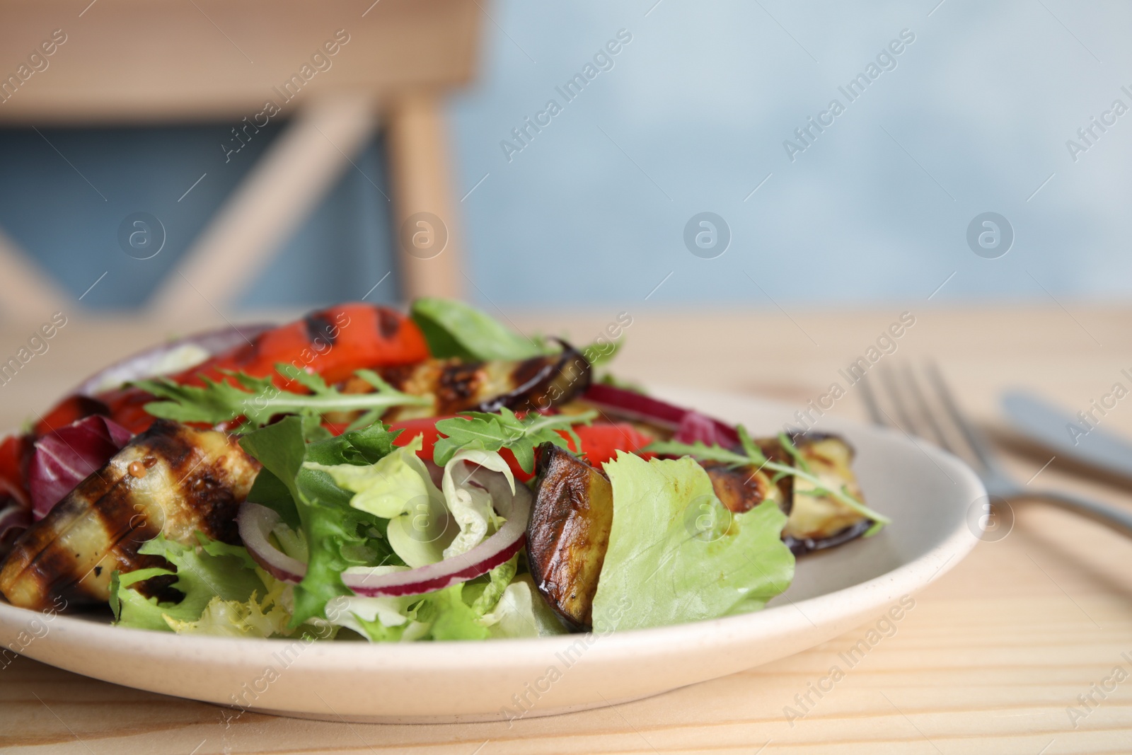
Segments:
[[[110,604],[119,626],[169,632],[171,625],[165,617],[196,621],[213,599],[245,602],[257,591],[267,593],[247,550],[208,540],[200,533],[197,540],[199,546],[186,546],[160,534],[138,548],[139,554],[161,556],[177,570],[147,568],[118,574],[111,581]],[[177,575],[173,589],[185,593],[177,603],[158,603],[156,598],[145,598],[131,589],[149,577],[172,574]]]

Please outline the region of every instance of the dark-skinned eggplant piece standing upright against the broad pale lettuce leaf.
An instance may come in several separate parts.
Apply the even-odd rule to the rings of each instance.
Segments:
[[[567,626],[588,628],[614,523],[614,490],[601,471],[550,444],[541,447],[538,475],[526,529],[531,576]]]

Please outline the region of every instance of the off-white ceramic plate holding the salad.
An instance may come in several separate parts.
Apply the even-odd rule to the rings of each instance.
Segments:
[[[777,432],[795,409],[726,394],[658,393],[744,422],[756,436]],[[880,618],[978,541],[968,511],[986,492],[962,462],[886,430],[832,422],[820,429],[854,444],[868,504],[893,524],[800,558],[790,589],[757,614],[604,636],[370,645],[178,636],[69,616],[44,621],[0,601],[0,644],[96,679],[237,705],[233,715],[249,709],[334,721],[483,721],[655,695]]]

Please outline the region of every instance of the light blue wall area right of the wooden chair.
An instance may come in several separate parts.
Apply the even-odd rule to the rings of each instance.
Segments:
[[[1132,8],[938,2],[496,3],[453,108],[464,190],[490,173],[463,203],[477,284],[633,301],[672,272],[650,303],[824,304],[927,298],[957,272],[934,301],[1126,297],[1132,113],[1077,162],[1065,141],[1132,106]],[[620,28],[612,70],[508,162],[499,141]],[[897,68],[791,162],[782,141],[903,28]],[[683,242],[702,211],[734,234],[717,259]],[[966,241],[986,211],[1015,232],[998,259]]]

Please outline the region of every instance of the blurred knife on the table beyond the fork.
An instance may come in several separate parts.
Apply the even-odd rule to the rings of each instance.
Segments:
[[[1001,405],[1022,435],[1065,456],[1132,478],[1132,443],[1024,391],[1007,391]]]

